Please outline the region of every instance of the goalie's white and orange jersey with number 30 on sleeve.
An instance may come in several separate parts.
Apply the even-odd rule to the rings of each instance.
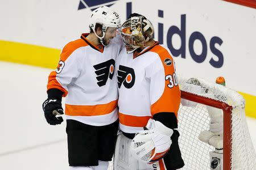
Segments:
[[[138,133],[156,113],[172,112],[177,117],[180,89],[170,50],[155,42],[140,53],[123,49],[116,64],[119,127]]]

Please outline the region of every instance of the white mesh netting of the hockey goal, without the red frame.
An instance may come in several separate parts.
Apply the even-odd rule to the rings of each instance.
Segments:
[[[203,79],[179,77],[179,86],[180,90],[215,99],[233,107],[232,127],[230,127],[232,128],[231,169],[256,169],[256,154],[247,128],[243,97],[225,86],[209,83]],[[181,134],[179,143],[185,162],[182,169],[210,169],[209,151],[214,151],[214,147],[198,139],[201,131],[209,130],[208,109],[203,104],[193,106],[181,105],[178,113]]]

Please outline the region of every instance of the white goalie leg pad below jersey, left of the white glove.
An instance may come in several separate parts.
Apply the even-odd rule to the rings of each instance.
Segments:
[[[118,135],[115,144],[114,169],[139,169],[138,160],[131,155],[131,139],[122,133]]]

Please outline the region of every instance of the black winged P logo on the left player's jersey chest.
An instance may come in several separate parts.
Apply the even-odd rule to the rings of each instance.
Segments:
[[[98,80],[98,86],[104,86],[108,80],[108,78],[112,79],[114,75],[114,59],[109,59],[108,61],[99,63],[94,65],[94,69],[96,70],[96,79]]]

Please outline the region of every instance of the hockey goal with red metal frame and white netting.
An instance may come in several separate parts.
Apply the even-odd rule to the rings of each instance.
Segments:
[[[204,79],[178,78],[181,100],[192,103],[181,104],[178,113],[179,146],[185,162],[182,169],[213,169],[210,168],[209,152],[215,148],[199,140],[201,131],[209,130],[209,107],[223,113],[223,167],[220,165],[216,169],[256,169],[243,97],[228,87]],[[110,169],[113,169],[113,162]]]

